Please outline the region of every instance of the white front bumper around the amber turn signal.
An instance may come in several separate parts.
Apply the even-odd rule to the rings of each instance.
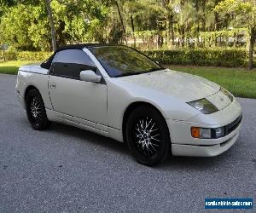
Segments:
[[[210,157],[224,153],[237,140],[241,124],[228,135],[218,139],[199,139],[191,136],[191,127],[218,128],[233,123],[241,116],[241,107],[234,100],[230,106],[212,114],[199,114],[189,121],[166,119],[169,127],[172,154],[177,156]]]

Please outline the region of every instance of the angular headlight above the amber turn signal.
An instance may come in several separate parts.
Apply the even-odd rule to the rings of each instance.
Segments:
[[[211,114],[218,111],[218,108],[205,98],[188,102],[188,104],[204,114]]]

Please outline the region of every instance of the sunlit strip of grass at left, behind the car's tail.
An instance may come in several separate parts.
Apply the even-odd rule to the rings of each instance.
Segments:
[[[35,63],[38,62],[30,60],[13,60],[8,62],[0,62],[0,73],[16,75],[20,66]]]

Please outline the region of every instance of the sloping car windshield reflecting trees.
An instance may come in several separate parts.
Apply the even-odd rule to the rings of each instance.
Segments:
[[[110,77],[137,75],[163,69],[135,49],[125,46],[102,46],[90,48]]]

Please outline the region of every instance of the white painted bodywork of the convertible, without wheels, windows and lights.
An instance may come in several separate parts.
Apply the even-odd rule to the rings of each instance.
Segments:
[[[168,69],[110,78],[90,50],[84,52],[96,64],[105,84],[51,76],[49,70],[40,66],[21,66],[16,91],[22,106],[26,108],[26,89],[34,86],[43,97],[49,120],[124,141],[125,110],[135,102],[147,102],[166,119],[173,155],[214,156],[235,143],[241,124],[219,139],[195,139],[190,133],[192,126],[217,128],[241,115],[239,103],[235,98],[232,102],[226,99],[218,84]],[[201,98],[212,101],[219,111],[203,114],[186,103]]]

